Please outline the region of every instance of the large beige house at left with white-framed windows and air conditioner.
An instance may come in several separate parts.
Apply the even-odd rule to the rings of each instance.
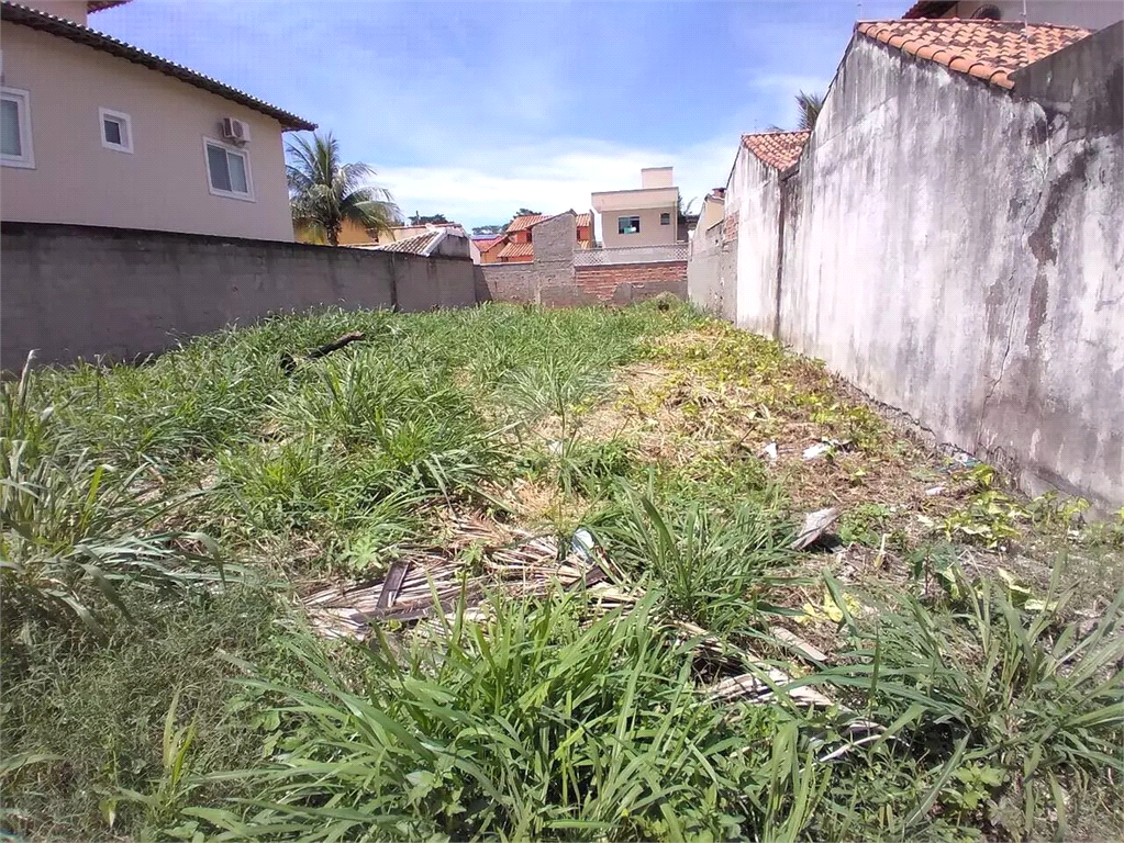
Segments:
[[[292,241],[282,132],[316,126],[85,26],[119,4],[0,4],[0,220]]]

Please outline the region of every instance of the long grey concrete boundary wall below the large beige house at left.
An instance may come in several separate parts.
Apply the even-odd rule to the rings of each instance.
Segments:
[[[320,305],[422,311],[477,301],[470,259],[162,231],[4,222],[0,367],[106,355]]]

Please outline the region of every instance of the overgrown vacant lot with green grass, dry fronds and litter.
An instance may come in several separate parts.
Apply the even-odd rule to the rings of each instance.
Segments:
[[[1120,522],[682,305],[3,390],[7,835],[1120,834]]]

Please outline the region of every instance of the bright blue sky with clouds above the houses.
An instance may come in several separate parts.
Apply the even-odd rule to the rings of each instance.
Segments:
[[[330,129],[406,213],[466,226],[589,208],[676,168],[725,184],[742,132],[796,120],[858,19],[909,0],[134,0],[90,26]]]

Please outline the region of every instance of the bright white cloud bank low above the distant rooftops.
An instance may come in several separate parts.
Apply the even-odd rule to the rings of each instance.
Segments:
[[[522,207],[588,210],[590,193],[640,187],[642,167],[673,166],[685,202],[701,198],[725,185],[737,143],[736,135],[679,149],[550,140],[492,147],[448,164],[383,167],[378,181],[406,214],[444,213],[471,227],[506,222]]]

